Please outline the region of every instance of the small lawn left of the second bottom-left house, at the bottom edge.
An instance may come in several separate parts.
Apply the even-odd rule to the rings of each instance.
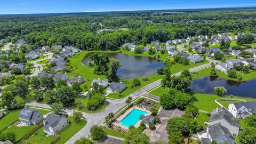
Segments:
[[[38,137],[38,134],[41,134],[41,136]],[[54,135],[51,135],[50,137],[44,137],[44,129],[41,127],[26,140],[34,143],[51,143],[55,138],[56,137]]]

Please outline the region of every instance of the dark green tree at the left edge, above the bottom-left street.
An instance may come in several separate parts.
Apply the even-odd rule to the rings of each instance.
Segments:
[[[8,110],[12,109],[14,103],[14,96],[10,91],[3,91],[0,97],[2,99],[2,105]]]

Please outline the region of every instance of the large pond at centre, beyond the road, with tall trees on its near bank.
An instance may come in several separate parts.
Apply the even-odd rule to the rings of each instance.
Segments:
[[[91,61],[88,53],[82,64],[86,66],[87,61]],[[164,68],[164,62],[150,57],[127,55],[124,53],[106,53],[108,58],[114,58],[122,63],[118,69],[117,75],[122,79],[139,78],[157,74],[157,69]]]

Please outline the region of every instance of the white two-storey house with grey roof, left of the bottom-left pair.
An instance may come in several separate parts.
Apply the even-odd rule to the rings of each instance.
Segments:
[[[26,125],[35,125],[41,122],[44,117],[38,110],[29,109],[28,106],[23,108],[19,114],[20,122]]]

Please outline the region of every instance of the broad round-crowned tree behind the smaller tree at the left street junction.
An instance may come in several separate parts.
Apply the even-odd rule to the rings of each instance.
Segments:
[[[55,92],[57,102],[63,103],[65,107],[73,105],[77,98],[69,86],[61,86]]]

